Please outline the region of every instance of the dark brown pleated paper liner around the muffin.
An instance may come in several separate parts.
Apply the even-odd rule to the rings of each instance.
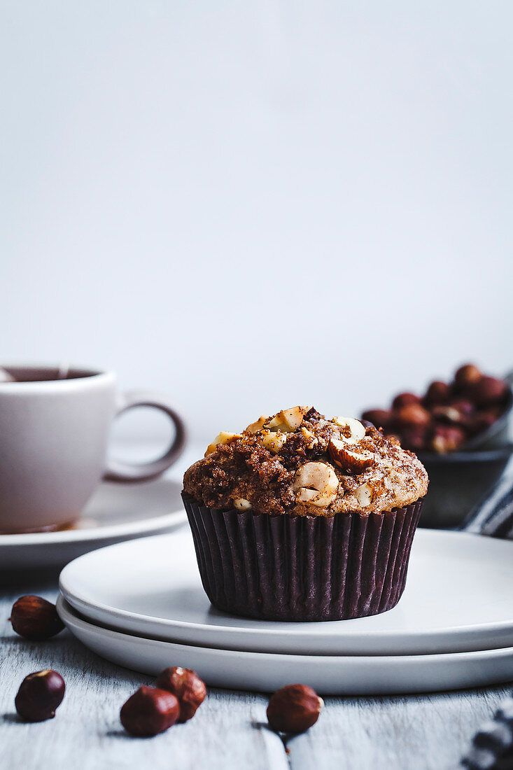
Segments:
[[[223,612],[334,621],[390,610],[401,598],[422,500],[326,518],[216,511],[182,497],[203,588]]]

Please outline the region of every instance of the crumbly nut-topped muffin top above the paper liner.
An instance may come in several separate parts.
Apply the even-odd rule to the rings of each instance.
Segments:
[[[370,423],[292,407],[240,434],[220,433],[186,470],[183,486],[222,511],[330,517],[414,503],[426,494],[428,474],[413,452]]]

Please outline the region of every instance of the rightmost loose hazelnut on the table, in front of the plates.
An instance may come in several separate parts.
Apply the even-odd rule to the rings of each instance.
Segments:
[[[324,701],[307,685],[287,685],[270,697],[267,719],[273,730],[304,732],[315,725]]]

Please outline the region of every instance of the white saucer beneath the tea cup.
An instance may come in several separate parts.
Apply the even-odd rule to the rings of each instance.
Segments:
[[[169,479],[103,482],[73,529],[0,535],[0,570],[62,567],[95,548],[176,529],[187,518],[181,489]]]

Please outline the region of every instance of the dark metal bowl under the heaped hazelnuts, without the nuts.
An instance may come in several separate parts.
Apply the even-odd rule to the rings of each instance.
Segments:
[[[421,527],[458,527],[501,477],[512,453],[513,444],[475,452],[419,452],[429,476]]]

